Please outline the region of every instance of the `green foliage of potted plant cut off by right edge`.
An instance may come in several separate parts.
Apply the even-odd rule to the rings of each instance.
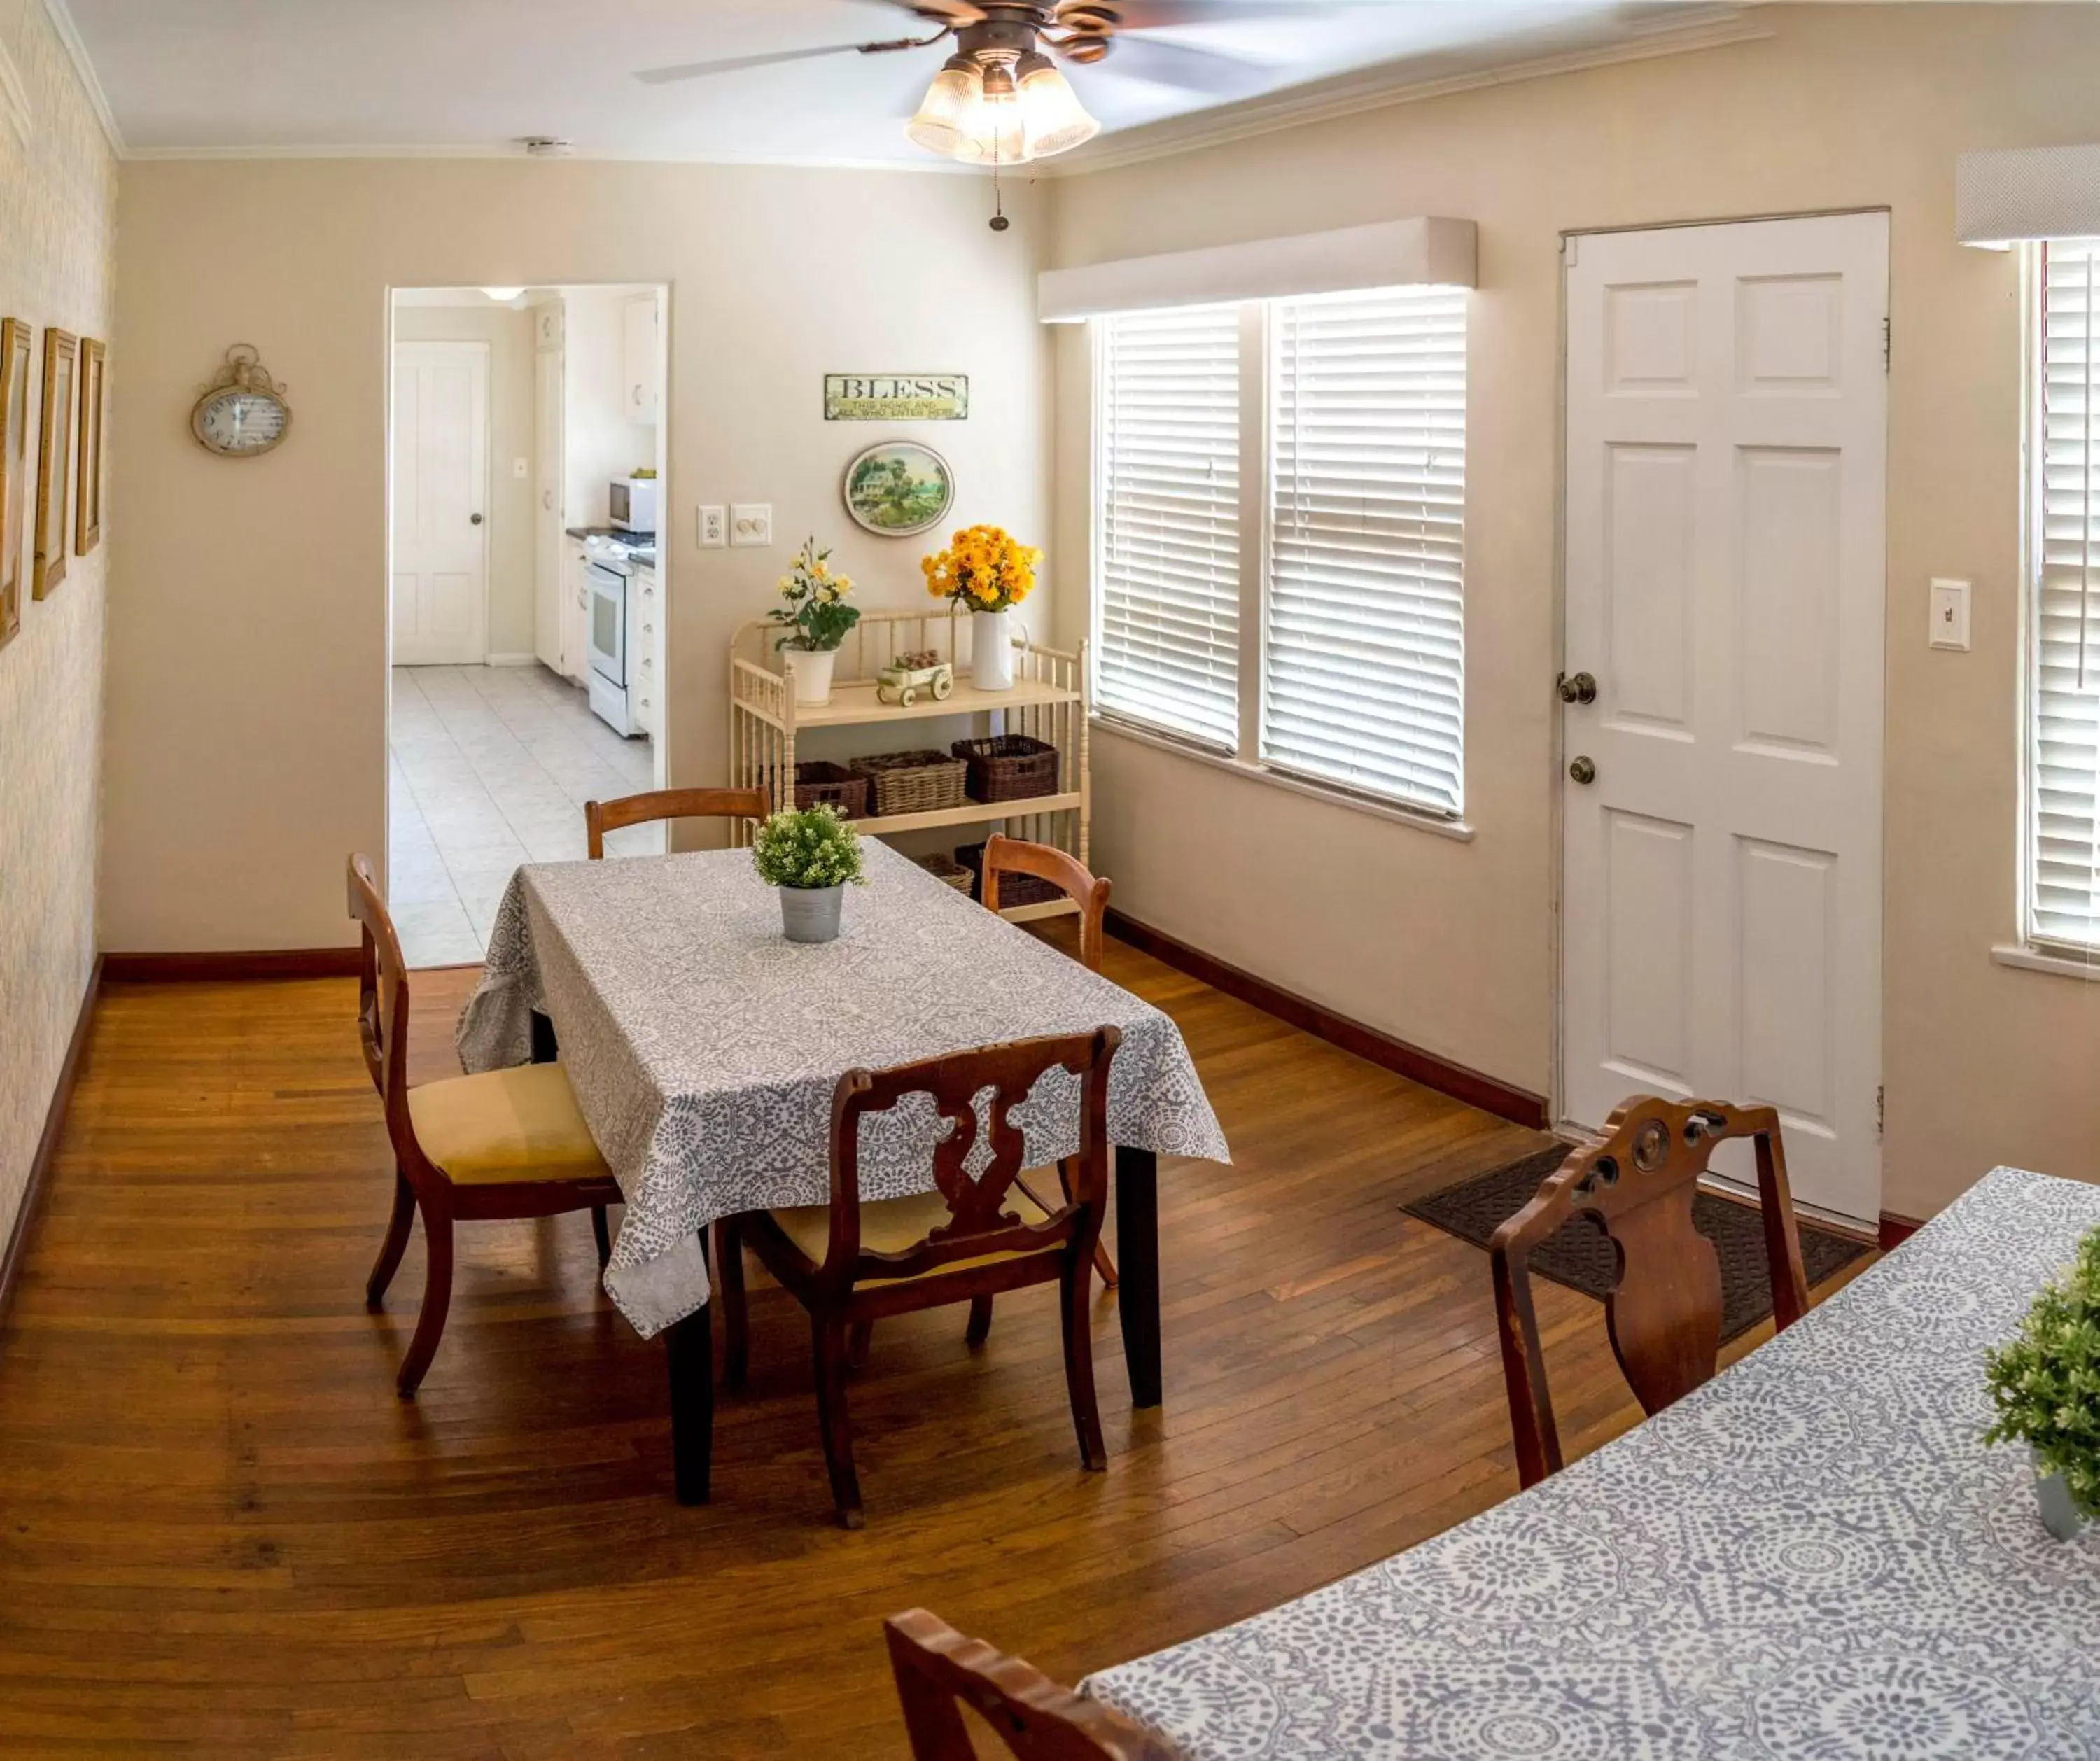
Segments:
[[[2071,1503],[2100,1518],[2100,1228],[1984,1371],[1997,1404],[1984,1442],[2031,1444],[2043,1473],[2064,1476]]]

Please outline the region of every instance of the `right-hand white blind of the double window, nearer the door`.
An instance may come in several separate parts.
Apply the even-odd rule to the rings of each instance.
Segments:
[[[1464,806],[1466,292],[1273,306],[1262,760]]]

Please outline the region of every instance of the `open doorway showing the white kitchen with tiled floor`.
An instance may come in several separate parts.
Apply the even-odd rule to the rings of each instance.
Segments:
[[[584,802],[664,785],[666,290],[403,288],[388,401],[386,896],[410,966],[483,957]],[[664,848],[662,825],[607,854]]]

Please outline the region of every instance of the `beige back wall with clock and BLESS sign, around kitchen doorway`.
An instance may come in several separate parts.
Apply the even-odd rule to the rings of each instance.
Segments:
[[[109,949],[349,940],[342,858],[386,827],[386,288],[670,283],[674,783],[720,775],[731,628],[806,531],[869,604],[922,594],[920,546],[850,527],[825,372],[972,376],[930,424],[956,514],[1040,531],[1046,342],[1035,210],[985,227],[976,178],[538,162],[126,164],[109,607]],[[206,239],[239,239],[239,273]],[[260,460],[183,416],[229,342],[290,384]],[[699,550],[699,502],[771,502],[771,550]]]

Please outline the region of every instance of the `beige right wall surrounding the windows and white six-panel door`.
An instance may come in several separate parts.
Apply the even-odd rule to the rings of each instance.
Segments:
[[[1063,181],[1054,262],[1457,214],[1480,227],[1468,420],[1472,844],[1113,735],[1117,905],[1522,1087],[1552,1081],[1558,233],[1892,210],[1884,1203],[1997,1161],[2100,1175],[2100,986],[2010,972],[2018,835],[2018,262],[1953,241],[1955,155],[2092,141],[2090,6],[1760,8],[1770,40],[1394,105]],[[1086,342],[1060,332],[1056,525],[1084,630]],[[1974,653],[1926,579],[1976,584]],[[1228,852],[1228,858],[1226,858]]]

